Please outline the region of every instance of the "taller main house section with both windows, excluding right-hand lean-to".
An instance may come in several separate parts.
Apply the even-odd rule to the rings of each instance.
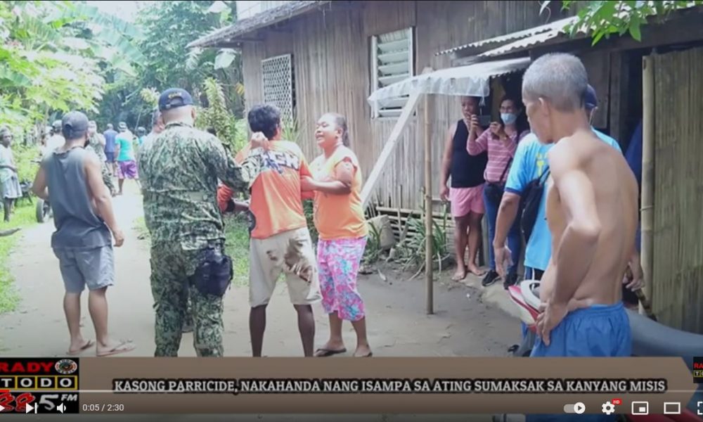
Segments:
[[[251,2],[247,2],[251,3]],[[555,2],[540,15],[531,1],[288,1],[209,34],[191,46],[236,48],[243,55],[245,103],[274,103],[295,120],[299,143],[310,158],[319,153],[315,122],[325,112],[349,121],[352,148],[368,174],[407,98],[374,108],[366,98],[424,68],[446,68],[437,52],[542,25],[561,16]],[[252,7],[252,6],[250,6]],[[430,113],[438,128],[432,158],[434,180],[446,129],[460,118],[456,98],[438,98]],[[423,200],[423,113],[413,115],[404,139],[375,190],[382,207],[417,209]],[[441,129],[440,129],[441,128]],[[437,196],[438,186],[434,187]]]

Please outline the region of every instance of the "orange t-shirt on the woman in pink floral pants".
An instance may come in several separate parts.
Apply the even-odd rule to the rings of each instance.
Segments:
[[[317,180],[335,179],[335,169],[341,162],[354,166],[352,192],[348,195],[330,195],[315,192],[315,227],[324,241],[360,238],[368,234],[361,202],[361,169],[352,150],[340,146],[330,158],[320,155],[310,165]]]

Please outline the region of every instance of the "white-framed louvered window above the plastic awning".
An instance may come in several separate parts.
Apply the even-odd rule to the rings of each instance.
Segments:
[[[371,38],[371,89],[380,89],[414,75],[413,28]],[[373,117],[399,117],[408,96],[373,106]]]

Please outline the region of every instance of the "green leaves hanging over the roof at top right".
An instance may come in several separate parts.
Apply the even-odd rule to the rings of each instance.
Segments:
[[[542,1],[541,11],[545,11],[551,1]],[[582,1],[564,0],[565,9],[576,7]],[[702,0],[657,0],[657,1],[631,1],[609,0],[588,1],[585,7],[578,12],[579,19],[576,23],[566,28],[567,32],[575,35],[579,32],[591,34],[595,45],[603,37],[608,38],[613,34],[630,34],[633,39],[641,41],[641,27],[647,24],[650,18],[663,20],[669,13],[683,8],[703,5]]]

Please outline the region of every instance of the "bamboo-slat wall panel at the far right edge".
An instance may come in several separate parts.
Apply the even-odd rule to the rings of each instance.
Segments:
[[[703,49],[654,56],[652,307],[669,326],[703,333]]]

